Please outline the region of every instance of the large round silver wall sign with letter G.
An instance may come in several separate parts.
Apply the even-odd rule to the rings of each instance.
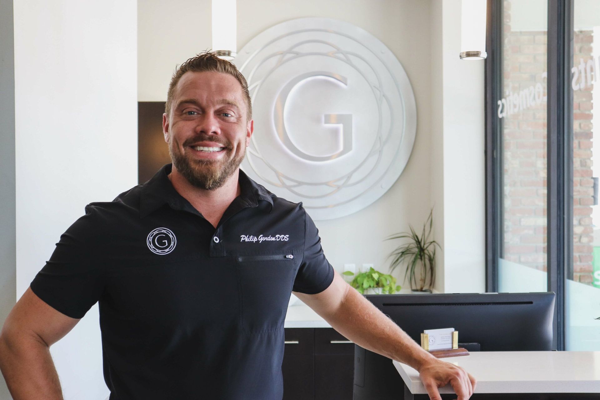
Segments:
[[[248,80],[254,134],[244,172],[313,219],[379,199],[410,157],[416,106],[398,59],[347,22],[301,18],[253,38],[235,64]]]

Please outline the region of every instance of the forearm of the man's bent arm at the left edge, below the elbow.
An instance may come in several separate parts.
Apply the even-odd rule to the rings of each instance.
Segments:
[[[0,370],[14,400],[62,400],[50,348],[41,340],[0,338]]]

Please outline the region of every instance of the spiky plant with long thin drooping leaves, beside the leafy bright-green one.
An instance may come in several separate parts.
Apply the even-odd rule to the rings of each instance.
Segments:
[[[398,246],[388,255],[388,258],[393,257],[389,270],[391,273],[397,266],[406,263],[404,282],[409,278],[410,288],[414,292],[431,293],[436,280],[436,246],[440,245],[435,240],[429,240],[432,226],[433,209],[423,224],[421,236],[409,224],[410,232],[393,234],[385,239],[409,239],[408,243]]]

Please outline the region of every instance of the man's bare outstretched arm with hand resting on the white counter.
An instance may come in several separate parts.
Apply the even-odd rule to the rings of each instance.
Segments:
[[[452,385],[458,400],[466,400],[473,394],[475,378],[463,368],[436,359],[423,350],[338,273],[321,293],[294,294],[355,344],[419,371],[432,400],[441,400],[437,388],[447,383]]]

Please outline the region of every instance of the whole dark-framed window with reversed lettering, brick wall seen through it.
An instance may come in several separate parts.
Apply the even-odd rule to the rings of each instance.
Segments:
[[[600,350],[600,2],[489,0],[487,47],[487,290],[554,291],[557,350]]]

